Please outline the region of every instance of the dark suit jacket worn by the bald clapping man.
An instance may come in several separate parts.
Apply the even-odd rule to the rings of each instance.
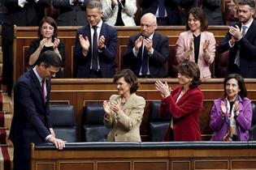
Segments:
[[[130,37],[127,51],[124,53],[123,58],[124,66],[129,66],[131,70],[137,74],[137,76],[139,75],[141,69],[141,52],[139,52],[137,57],[135,57],[132,49],[134,48],[135,41],[139,36],[141,36],[141,34]],[[154,32],[152,47],[154,49],[154,53],[151,56],[149,56],[147,52],[143,54],[149,56],[150,77],[167,77],[167,69],[165,66],[167,63],[167,58],[169,57],[169,40],[167,36]],[[142,45],[140,51],[142,51]]]

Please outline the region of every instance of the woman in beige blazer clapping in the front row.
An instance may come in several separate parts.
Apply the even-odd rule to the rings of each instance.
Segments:
[[[140,125],[145,108],[145,99],[136,95],[139,87],[132,70],[120,70],[114,75],[118,95],[103,102],[104,125],[111,128],[108,142],[141,142]]]

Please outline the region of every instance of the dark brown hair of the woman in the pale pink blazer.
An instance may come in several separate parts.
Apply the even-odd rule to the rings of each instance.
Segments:
[[[201,23],[201,32],[206,31],[208,28],[208,19],[206,15],[203,13],[202,9],[199,7],[193,7],[188,15],[187,15],[187,23],[186,23],[186,30],[190,30],[189,28],[189,14],[192,14],[195,19],[199,20]]]

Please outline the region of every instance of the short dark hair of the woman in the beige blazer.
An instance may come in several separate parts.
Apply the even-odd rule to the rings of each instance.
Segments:
[[[132,72],[132,70],[129,70],[129,69],[120,70],[119,72],[117,72],[114,75],[113,82],[117,83],[117,81],[121,78],[124,78],[124,81],[131,85],[131,87],[130,87],[131,94],[135,93],[137,91],[137,89],[139,87],[139,82],[138,82],[136,74],[134,74]]]

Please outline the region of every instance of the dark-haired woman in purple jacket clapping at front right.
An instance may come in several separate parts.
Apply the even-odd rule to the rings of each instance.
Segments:
[[[211,141],[248,141],[252,108],[244,79],[228,74],[223,85],[224,96],[215,100],[210,113]]]

